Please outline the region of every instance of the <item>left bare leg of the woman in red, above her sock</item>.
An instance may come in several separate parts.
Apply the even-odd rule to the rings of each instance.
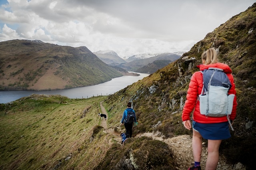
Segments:
[[[193,129],[192,148],[194,161],[200,162],[202,154],[202,136],[199,132]]]

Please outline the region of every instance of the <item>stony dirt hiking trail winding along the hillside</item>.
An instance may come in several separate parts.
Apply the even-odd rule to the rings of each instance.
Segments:
[[[100,102],[100,108],[101,108],[102,114],[105,114],[108,117],[108,113],[104,108],[104,106],[102,105],[102,102]],[[109,141],[109,144],[110,145],[112,144],[112,140],[116,140],[121,144],[120,134],[118,132],[114,132],[114,129],[107,128],[108,119],[106,121],[105,119],[102,119],[100,121],[101,121],[101,126],[104,127],[104,130],[106,133],[110,133],[116,136],[115,138],[112,138]],[[188,167],[191,166],[191,163],[194,163],[193,150],[192,150],[192,136],[181,135],[173,138],[164,138],[164,135],[161,132],[151,132],[151,133],[148,132],[143,134],[137,134],[136,137],[140,137],[140,136],[152,137],[154,140],[160,140],[168,144],[171,150],[173,151],[175,161],[179,164],[176,167],[178,170],[187,170]],[[206,159],[207,159],[207,146],[204,142],[202,143],[202,145],[203,145],[203,150],[202,150],[200,166],[202,170],[204,170]],[[240,163],[236,164],[233,167],[232,165],[227,164],[225,158],[222,155],[220,155],[216,170],[246,170],[246,168],[242,167],[242,164]]]

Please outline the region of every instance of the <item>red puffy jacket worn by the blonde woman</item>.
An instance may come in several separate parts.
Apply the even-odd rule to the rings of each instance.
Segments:
[[[229,116],[230,120],[234,120],[236,117],[236,90],[235,90],[235,84],[234,84],[234,78],[232,73],[232,70],[230,67],[224,63],[215,63],[215,64],[208,64],[208,65],[198,65],[198,68],[200,68],[200,71],[203,71],[204,69],[208,69],[209,67],[215,67],[223,69],[223,71],[227,74],[228,79],[230,80],[230,83],[232,87],[228,91],[228,94],[234,94],[234,102],[233,102],[233,109],[232,113]],[[200,107],[199,107],[199,101],[198,95],[201,94],[202,88],[203,88],[203,74],[197,71],[195,72],[192,77],[191,81],[189,83],[188,87],[188,93],[187,93],[187,99],[182,111],[182,121],[190,120],[190,113],[193,113],[193,120],[198,123],[221,123],[221,122],[227,122],[228,119],[226,116],[224,117],[209,117],[205,115],[200,114]]]

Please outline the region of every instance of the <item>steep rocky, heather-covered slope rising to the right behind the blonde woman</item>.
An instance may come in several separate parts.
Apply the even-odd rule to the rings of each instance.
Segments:
[[[201,64],[201,54],[210,47],[216,47],[219,61],[232,68],[238,99],[237,117],[233,124],[235,130],[231,131],[230,139],[222,141],[220,155],[224,155],[230,164],[241,162],[247,169],[254,169],[256,3],[207,34],[180,59],[109,96],[106,103],[114,117],[110,121],[119,120],[122,113],[119,108],[125,109],[126,103],[132,101],[139,122],[134,135],[157,131],[165,137],[191,135],[192,131],[182,125],[182,109],[190,77],[198,71],[196,65]],[[207,141],[204,140],[204,143],[207,144]],[[132,160],[129,155],[125,158]]]

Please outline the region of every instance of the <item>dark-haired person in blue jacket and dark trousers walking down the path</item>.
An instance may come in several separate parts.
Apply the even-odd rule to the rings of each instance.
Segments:
[[[132,107],[132,103],[131,102],[128,102],[127,103],[127,109],[124,110],[124,113],[123,113],[123,118],[121,120],[121,124],[123,125],[124,124],[124,127],[125,127],[125,130],[126,130],[126,135],[129,136],[130,138],[132,137],[132,126],[133,126],[133,121],[137,123],[136,121],[136,115],[135,115],[135,111],[131,108]],[[127,118],[127,113],[132,111],[134,114],[133,114],[133,121],[132,122],[128,122],[126,120]]]

